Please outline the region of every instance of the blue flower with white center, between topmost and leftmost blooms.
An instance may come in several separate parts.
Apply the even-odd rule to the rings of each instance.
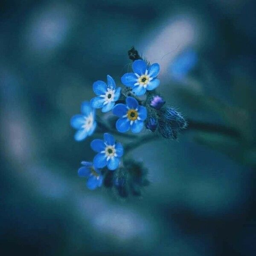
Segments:
[[[116,83],[111,76],[107,76],[108,84],[103,81],[93,83],[93,91],[97,95],[90,100],[90,105],[93,108],[102,108],[102,112],[110,111],[115,102],[119,99],[121,87],[116,89]]]

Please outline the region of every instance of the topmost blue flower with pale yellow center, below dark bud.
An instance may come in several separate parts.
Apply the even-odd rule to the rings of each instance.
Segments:
[[[159,84],[159,79],[156,79],[160,71],[158,63],[147,66],[145,61],[136,60],[132,64],[134,73],[126,73],[122,76],[121,81],[127,87],[132,87],[135,95],[144,95],[146,90],[154,90]]]

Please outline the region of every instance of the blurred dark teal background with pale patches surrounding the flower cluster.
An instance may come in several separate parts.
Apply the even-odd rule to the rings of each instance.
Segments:
[[[256,255],[254,1],[0,6],[2,252]],[[131,151],[151,184],[121,200],[77,176],[94,153],[90,138],[75,142],[70,117],[93,81],[121,85],[131,46],[160,64],[166,101],[201,125]]]

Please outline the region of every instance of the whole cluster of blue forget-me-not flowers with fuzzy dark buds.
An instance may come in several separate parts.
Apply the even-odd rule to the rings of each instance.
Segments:
[[[139,55],[132,56],[138,58]],[[138,134],[145,127],[153,132],[158,130],[165,138],[177,138],[178,132],[186,127],[183,117],[169,106],[164,107],[165,101],[155,93],[160,84],[157,78],[159,64],[150,65],[142,59],[134,59],[132,70],[133,73],[125,73],[121,77],[125,85],[123,89],[116,87],[116,82],[109,75],[107,83],[100,80],[94,82],[92,88],[96,96],[83,102],[81,114],[73,116],[70,121],[77,130],[77,141],[93,136],[94,131],[103,134],[103,140],[96,138],[91,141],[90,146],[96,154],[92,162],[81,162],[79,176],[87,178],[88,189],[104,184],[114,187],[122,197],[141,194],[142,187],[148,185],[147,170],[142,163],[124,158],[129,144],[123,146],[116,142],[111,133],[124,137],[128,131]],[[140,96],[144,96],[143,99]],[[110,117],[107,123],[96,118],[96,109],[101,109],[102,113],[111,111],[117,117],[115,125]],[[133,138],[136,140],[136,137]]]

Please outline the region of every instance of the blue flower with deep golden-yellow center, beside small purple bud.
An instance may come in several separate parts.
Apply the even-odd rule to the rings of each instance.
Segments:
[[[120,118],[116,121],[116,129],[119,132],[131,131],[138,133],[143,129],[144,120],[147,118],[147,109],[139,106],[133,97],[126,97],[126,105],[119,103],[113,108],[113,114]]]

